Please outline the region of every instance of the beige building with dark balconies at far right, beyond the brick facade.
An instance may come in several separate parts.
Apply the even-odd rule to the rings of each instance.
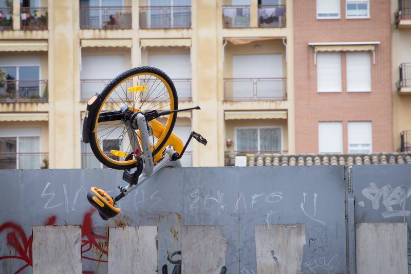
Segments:
[[[411,1],[391,2],[394,150],[411,152]]]

